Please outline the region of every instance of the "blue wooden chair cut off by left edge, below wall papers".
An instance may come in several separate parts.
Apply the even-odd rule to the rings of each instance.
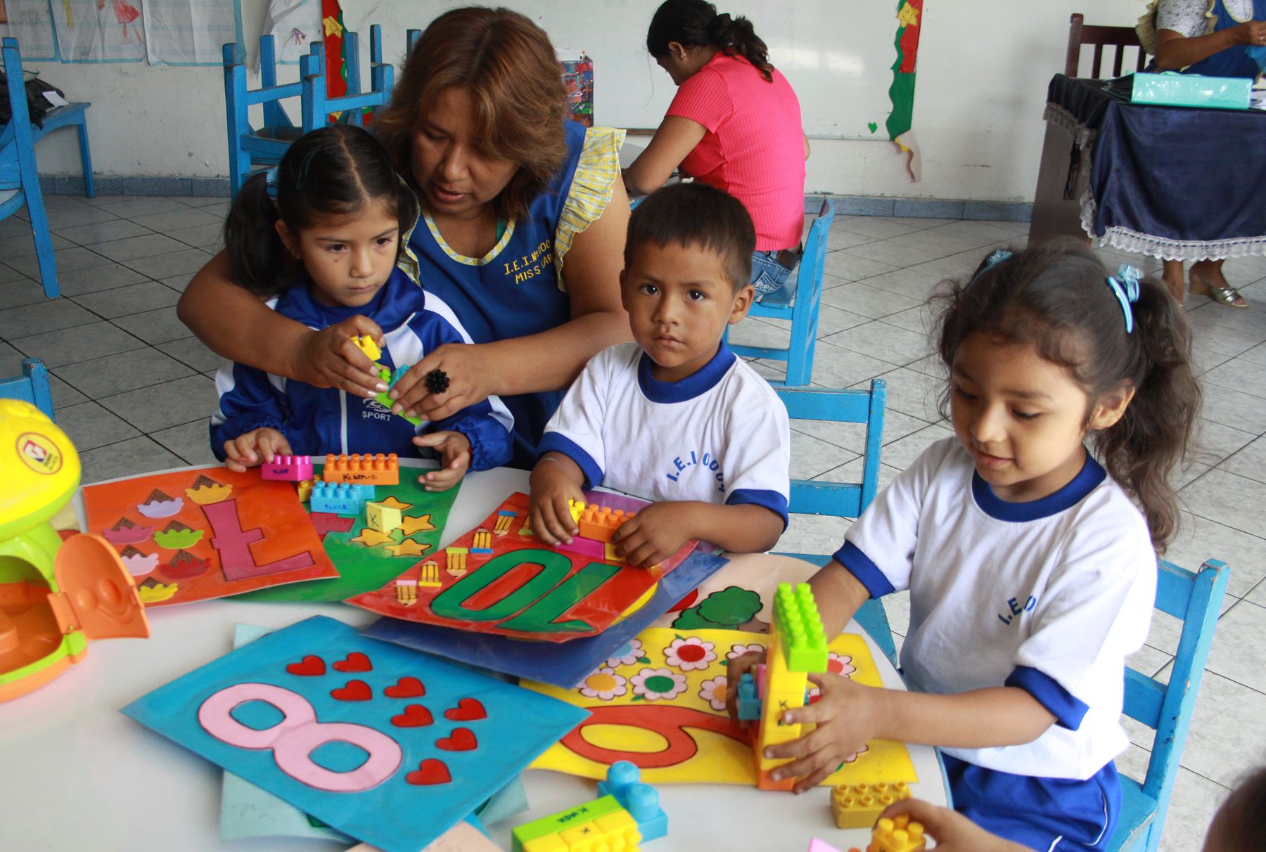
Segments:
[[[44,295],[56,299],[62,294],[57,286],[57,262],[53,241],[48,233],[48,214],[44,196],[39,191],[39,172],[35,167],[35,138],[27,110],[27,89],[22,78],[22,54],[18,39],[5,38],[0,44],[4,54],[5,96],[13,118],[0,128],[0,219],[27,205],[30,215],[30,233],[35,238],[35,260],[39,262],[39,280]]]

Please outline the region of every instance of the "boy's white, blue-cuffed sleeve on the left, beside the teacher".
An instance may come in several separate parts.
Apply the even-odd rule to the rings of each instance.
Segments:
[[[539,456],[557,452],[576,462],[585,473],[586,489],[601,485],[606,470],[603,424],[606,422],[611,370],[611,349],[590,358],[549,418],[546,433],[537,444]]]

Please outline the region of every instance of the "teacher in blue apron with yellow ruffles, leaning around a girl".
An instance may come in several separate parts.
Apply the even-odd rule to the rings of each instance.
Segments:
[[[400,265],[476,343],[428,353],[392,389],[392,410],[438,420],[500,395],[523,467],[589,357],[629,338],[619,294],[623,132],[565,116],[544,32],[505,9],[467,8],[432,22],[373,122],[420,199]],[[177,310],[234,361],[367,399],[385,390],[349,339],[380,337],[372,316],[320,332],[279,316],[229,279],[224,252],[194,277]],[[443,394],[417,379],[433,368],[449,376]]]

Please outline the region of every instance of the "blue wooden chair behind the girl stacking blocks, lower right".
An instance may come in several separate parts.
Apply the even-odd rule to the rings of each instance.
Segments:
[[[1125,668],[1125,715],[1155,729],[1156,738],[1143,782],[1120,776],[1120,822],[1108,846],[1113,852],[1155,852],[1161,843],[1165,813],[1229,577],[1231,568],[1217,560],[1206,561],[1196,573],[1163,560],[1157,568],[1156,609],[1182,619],[1182,634],[1169,684]]]

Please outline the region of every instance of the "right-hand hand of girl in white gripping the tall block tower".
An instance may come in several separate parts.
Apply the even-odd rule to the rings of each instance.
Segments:
[[[793,789],[798,794],[822,784],[860,752],[875,737],[877,719],[885,713],[886,690],[862,686],[841,675],[809,675],[809,681],[822,687],[822,698],[808,706],[784,710],[782,722],[818,727],[800,739],[765,749],[766,757],[794,758],[774,770],[774,779],[800,779]]]

